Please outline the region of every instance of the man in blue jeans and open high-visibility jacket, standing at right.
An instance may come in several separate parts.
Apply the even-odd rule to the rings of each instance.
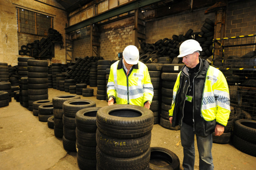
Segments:
[[[229,88],[218,69],[199,58],[202,51],[196,40],[186,40],[179,48],[185,66],[178,74],[169,110],[172,126],[181,126],[181,144],[185,170],[194,169],[197,138],[199,169],[213,170],[212,133],[220,136],[230,113]]]

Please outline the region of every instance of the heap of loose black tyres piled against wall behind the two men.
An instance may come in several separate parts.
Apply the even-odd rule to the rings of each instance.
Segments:
[[[143,42],[139,50],[139,61],[143,63],[159,63],[163,60],[162,57],[168,57],[168,60],[172,64],[182,63],[181,58],[177,58],[179,55],[179,46],[189,39],[194,39],[201,45],[201,58],[210,59],[213,50],[213,35],[214,22],[206,18],[200,32],[193,32],[192,29],[189,29],[185,35],[173,35],[172,39],[160,39],[153,44]]]

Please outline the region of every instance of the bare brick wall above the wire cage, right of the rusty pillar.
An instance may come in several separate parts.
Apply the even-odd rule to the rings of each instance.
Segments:
[[[230,2],[226,13],[225,37],[250,35],[256,32],[256,1]]]

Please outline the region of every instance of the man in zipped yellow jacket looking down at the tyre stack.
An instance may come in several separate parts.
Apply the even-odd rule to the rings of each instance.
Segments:
[[[123,58],[111,65],[107,83],[108,105],[133,104],[150,108],[154,92],[147,66],[139,61],[139,50],[129,45]]]

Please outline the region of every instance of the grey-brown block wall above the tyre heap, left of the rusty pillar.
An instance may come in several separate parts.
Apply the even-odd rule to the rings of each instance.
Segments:
[[[189,29],[193,29],[193,32],[200,32],[206,18],[213,22],[215,20],[215,13],[204,14],[206,9],[201,8],[146,22],[146,43],[155,43],[157,40],[166,37],[172,39],[173,35],[185,35]]]

